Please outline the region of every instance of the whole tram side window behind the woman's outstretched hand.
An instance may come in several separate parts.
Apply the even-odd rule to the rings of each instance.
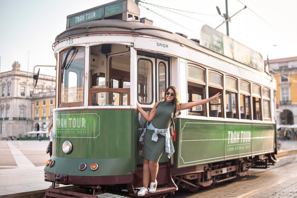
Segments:
[[[223,92],[223,76],[215,71],[208,72],[208,97]],[[209,104],[210,117],[224,117],[223,98],[211,101]]]

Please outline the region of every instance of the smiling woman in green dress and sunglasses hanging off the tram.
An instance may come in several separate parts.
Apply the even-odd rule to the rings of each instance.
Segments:
[[[169,126],[172,122],[172,117],[175,112],[180,115],[181,110],[189,109],[194,106],[202,105],[213,100],[217,100],[221,94],[204,99],[196,100],[189,103],[181,103],[176,87],[170,86],[164,94],[164,101],[158,101],[154,105],[150,114],[147,114],[137,104],[137,110],[142,117],[151,122],[146,130],[141,134],[140,142],[144,142],[141,156],[143,160],[143,187],[138,191],[138,196],[144,196],[147,192],[154,193],[157,189],[157,173],[159,169],[158,161],[165,150],[168,153],[168,158],[173,154],[174,148],[170,139]],[[160,104],[159,104],[160,103]],[[158,108],[157,108],[158,106]],[[168,141],[166,141],[168,140]],[[169,148],[168,148],[169,147]],[[151,174],[151,184],[148,190],[149,176]]]

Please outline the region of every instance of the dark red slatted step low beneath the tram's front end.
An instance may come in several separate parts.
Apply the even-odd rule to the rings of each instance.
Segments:
[[[65,191],[65,190],[59,190],[59,189],[56,189],[56,188],[48,188],[46,190],[46,193],[45,193],[43,198],[49,198],[49,197],[73,198],[73,196],[86,197],[86,198],[98,198],[95,195],[72,192],[72,191]]]

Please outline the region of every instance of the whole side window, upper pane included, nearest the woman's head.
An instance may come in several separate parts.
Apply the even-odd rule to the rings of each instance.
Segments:
[[[197,65],[188,65],[188,102],[205,99],[205,70]],[[206,116],[206,104],[189,109],[189,115]]]

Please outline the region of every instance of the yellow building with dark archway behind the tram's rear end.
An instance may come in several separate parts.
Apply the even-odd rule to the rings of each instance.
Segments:
[[[267,65],[267,61],[264,61]],[[277,124],[297,124],[297,56],[268,61],[269,71],[277,81]],[[296,120],[294,122],[294,120]]]

